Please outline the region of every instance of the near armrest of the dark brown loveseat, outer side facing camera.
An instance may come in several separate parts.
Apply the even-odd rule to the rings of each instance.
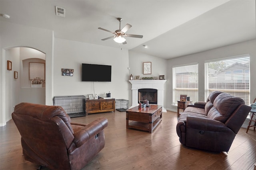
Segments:
[[[203,117],[187,117],[186,146],[210,151],[230,149],[236,136],[224,123]]]

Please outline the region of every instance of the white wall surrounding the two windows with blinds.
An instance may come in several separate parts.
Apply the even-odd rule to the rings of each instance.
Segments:
[[[201,53],[187,55],[168,60],[167,80],[172,79],[172,67],[181,64],[198,63],[198,100],[204,101],[204,62],[212,59],[220,59],[236,55],[250,54],[250,102],[256,98],[256,40],[246,41],[234,45],[228,45]],[[167,105],[166,109],[176,111],[172,106],[172,81],[167,82]]]

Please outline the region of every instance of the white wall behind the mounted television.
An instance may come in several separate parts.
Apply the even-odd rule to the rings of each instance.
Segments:
[[[128,99],[128,60],[128,50],[125,49],[56,38],[54,96],[86,95],[87,97],[87,94],[94,92],[103,96],[110,91],[112,98]],[[82,82],[82,63],[111,65],[111,82]],[[74,69],[73,76],[62,76],[62,68]]]

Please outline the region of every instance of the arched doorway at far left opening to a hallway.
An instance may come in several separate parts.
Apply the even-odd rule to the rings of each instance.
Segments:
[[[14,106],[20,102],[45,104],[45,86],[31,88],[29,63],[46,63],[46,54],[30,47],[12,47],[5,50],[11,70],[5,69],[5,119],[11,119]],[[45,73],[44,73],[45,74]]]

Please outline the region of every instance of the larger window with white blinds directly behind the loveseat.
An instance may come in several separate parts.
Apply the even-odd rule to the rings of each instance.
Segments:
[[[240,97],[250,103],[250,56],[240,55],[226,59],[206,61],[205,99],[214,91]]]

